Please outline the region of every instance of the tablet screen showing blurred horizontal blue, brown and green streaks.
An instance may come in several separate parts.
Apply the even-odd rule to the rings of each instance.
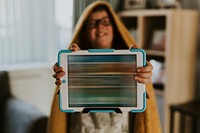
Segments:
[[[69,107],[136,107],[136,55],[68,55]]]

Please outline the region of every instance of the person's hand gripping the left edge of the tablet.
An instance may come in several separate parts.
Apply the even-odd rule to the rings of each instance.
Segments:
[[[73,43],[70,47],[70,50],[72,50],[73,52],[76,52],[80,50],[80,48],[78,47],[76,43]],[[62,84],[62,81],[60,80],[60,78],[62,78],[65,75],[65,72],[63,71],[62,67],[58,66],[58,63],[54,64],[53,71],[55,72],[55,74],[52,75],[56,79],[55,84],[60,86]]]

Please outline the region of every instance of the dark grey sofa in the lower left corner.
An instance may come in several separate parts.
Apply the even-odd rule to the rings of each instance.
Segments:
[[[9,74],[0,71],[0,133],[45,133],[48,117],[11,93]]]

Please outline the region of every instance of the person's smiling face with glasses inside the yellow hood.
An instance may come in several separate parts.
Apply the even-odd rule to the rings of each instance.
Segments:
[[[87,21],[88,41],[93,48],[111,48],[113,26],[105,10],[93,12]]]

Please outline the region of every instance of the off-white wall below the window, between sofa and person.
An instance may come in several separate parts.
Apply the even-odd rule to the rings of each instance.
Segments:
[[[52,74],[52,68],[47,67],[9,71],[11,91],[49,115],[55,90]]]

